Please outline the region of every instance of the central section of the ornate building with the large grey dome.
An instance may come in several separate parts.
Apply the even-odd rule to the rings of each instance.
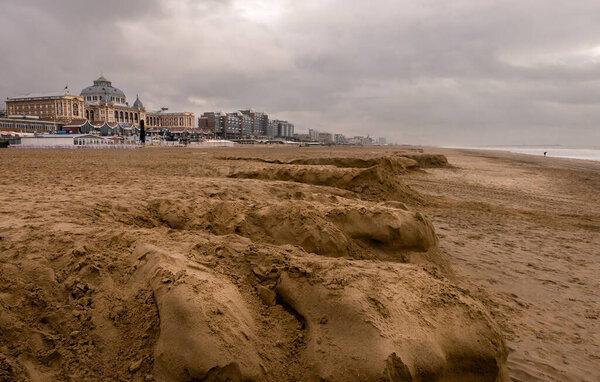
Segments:
[[[85,118],[89,121],[128,123],[139,126],[146,119],[144,104],[136,97],[133,106],[129,106],[125,93],[112,86],[103,75],[92,86],[81,91],[85,101]]]

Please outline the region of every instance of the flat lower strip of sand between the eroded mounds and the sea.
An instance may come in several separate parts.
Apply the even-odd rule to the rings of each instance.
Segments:
[[[600,163],[440,150],[409,175],[454,270],[503,330],[519,381],[600,379]]]

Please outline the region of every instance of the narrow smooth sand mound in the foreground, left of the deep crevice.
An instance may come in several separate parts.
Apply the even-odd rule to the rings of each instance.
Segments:
[[[154,378],[160,381],[256,379],[254,325],[237,288],[184,256],[142,245],[134,285],[152,286],[160,315]]]

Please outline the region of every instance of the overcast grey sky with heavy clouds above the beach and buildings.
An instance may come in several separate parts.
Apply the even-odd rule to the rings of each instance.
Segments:
[[[599,19],[583,0],[0,0],[0,97],[103,73],[130,104],[296,132],[600,146]]]

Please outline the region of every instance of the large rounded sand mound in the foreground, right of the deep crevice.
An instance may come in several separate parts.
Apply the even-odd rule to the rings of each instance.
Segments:
[[[311,272],[282,273],[276,292],[305,322],[315,379],[501,379],[507,352],[497,329],[447,284],[404,267],[301,264]]]

